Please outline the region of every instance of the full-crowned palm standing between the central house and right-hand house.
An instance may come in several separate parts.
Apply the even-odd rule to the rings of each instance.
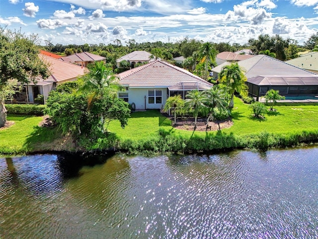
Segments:
[[[232,63],[223,67],[222,71],[219,73],[220,83],[225,85],[231,95],[231,101],[229,108],[233,109],[234,107],[234,93],[238,92],[241,96],[247,96],[247,86],[245,81],[247,80],[243,71],[239,68],[239,64]]]

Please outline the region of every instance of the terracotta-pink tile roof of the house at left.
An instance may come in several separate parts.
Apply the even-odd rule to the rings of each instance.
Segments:
[[[64,81],[75,80],[77,77],[85,75],[85,73],[88,71],[85,67],[64,62],[53,57],[42,54],[39,56],[44,63],[48,64],[49,70],[51,72],[51,76],[45,80],[47,82],[61,83]]]

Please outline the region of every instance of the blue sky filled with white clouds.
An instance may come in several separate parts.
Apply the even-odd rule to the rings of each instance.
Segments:
[[[36,33],[41,45],[245,44],[260,34],[303,44],[318,31],[318,0],[0,0],[0,26]]]

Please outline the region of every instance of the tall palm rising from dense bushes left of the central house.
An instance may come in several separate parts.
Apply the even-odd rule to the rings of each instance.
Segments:
[[[110,68],[107,68],[103,61],[95,61],[88,65],[89,72],[82,78],[83,85],[79,88],[77,94],[88,92],[88,108],[97,100],[104,97],[117,97],[117,92],[122,89],[118,84],[118,78]],[[101,131],[104,132],[104,117],[99,114]]]

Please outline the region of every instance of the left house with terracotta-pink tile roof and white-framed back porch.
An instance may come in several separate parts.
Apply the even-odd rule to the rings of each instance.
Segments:
[[[45,80],[38,78],[36,83],[21,84],[24,87],[21,92],[14,95],[13,103],[34,103],[34,99],[38,95],[43,96],[45,103],[50,91],[54,90],[57,85],[67,81],[75,81],[88,71],[86,68],[46,55],[40,54],[39,57],[48,65],[51,75]]]

